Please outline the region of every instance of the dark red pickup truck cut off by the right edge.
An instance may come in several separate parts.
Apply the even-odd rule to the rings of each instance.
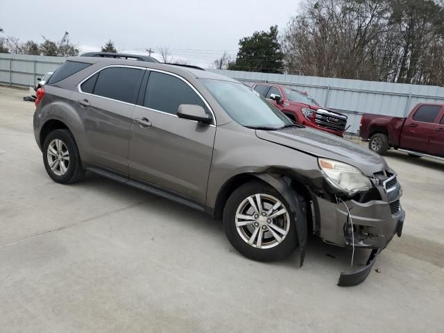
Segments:
[[[444,104],[420,103],[409,117],[363,114],[359,133],[380,155],[395,148],[411,156],[444,157]]]

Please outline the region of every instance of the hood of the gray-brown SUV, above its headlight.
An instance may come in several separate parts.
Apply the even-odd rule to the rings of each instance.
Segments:
[[[259,139],[274,142],[316,157],[330,158],[357,167],[366,176],[388,169],[386,161],[368,148],[311,128],[256,130]]]

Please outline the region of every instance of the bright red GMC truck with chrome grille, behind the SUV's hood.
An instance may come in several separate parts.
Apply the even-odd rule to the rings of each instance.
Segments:
[[[347,116],[322,108],[307,92],[266,83],[257,83],[253,85],[253,89],[297,123],[339,137],[342,137],[345,132]]]

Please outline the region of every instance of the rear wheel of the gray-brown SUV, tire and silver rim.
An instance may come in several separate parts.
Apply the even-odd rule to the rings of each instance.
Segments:
[[[69,130],[53,130],[49,133],[42,151],[44,168],[55,182],[71,184],[83,176],[77,144]]]

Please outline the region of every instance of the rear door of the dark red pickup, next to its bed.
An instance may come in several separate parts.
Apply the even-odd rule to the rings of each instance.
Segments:
[[[401,133],[402,148],[427,153],[429,141],[435,133],[440,105],[420,105],[404,123]]]

